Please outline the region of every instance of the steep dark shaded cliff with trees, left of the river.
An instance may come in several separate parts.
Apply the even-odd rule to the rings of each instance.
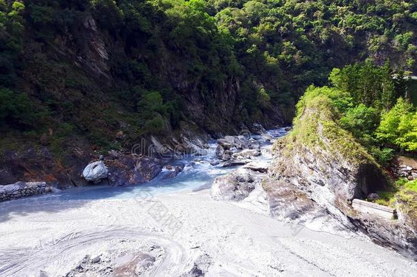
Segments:
[[[109,150],[193,151],[288,121],[256,93],[246,105],[243,68],[212,19],[175,1],[0,2],[0,184],[81,185]]]

